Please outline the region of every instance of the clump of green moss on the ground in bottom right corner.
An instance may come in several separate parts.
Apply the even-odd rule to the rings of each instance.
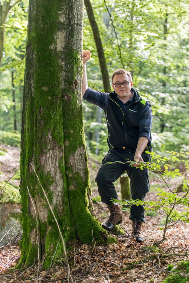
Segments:
[[[189,282],[189,261],[182,260],[176,268],[171,268],[173,265],[168,265],[167,269],[171,272],[162,283],[188,283]]]

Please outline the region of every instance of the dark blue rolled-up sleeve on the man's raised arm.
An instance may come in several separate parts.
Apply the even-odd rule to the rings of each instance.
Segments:
[[[87,88],[83,95],[83,99],[106,110],[108,107],[109,93],[99,92],[91,88]]]

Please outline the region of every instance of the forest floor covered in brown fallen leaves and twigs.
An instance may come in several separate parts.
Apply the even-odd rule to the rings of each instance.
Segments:
[[[20,149],[11,146],[0,145],[7,150],[5,155],[0,156],[0,180],[8,180],[19,169]],[[89,158],[90,179],[92,183],[93,198],[98,196],[96,183],[94,182],[99,169],[99,162]],[[184,172],[183,172],[184,175]],[[16,188],[19,180],[11,179],[10,184]],[[163,182],[157,176],[150,176],[151,190],[146,200],[157,200],[157,188],[165,188]],[[171,187],[176,188],[180,179],[174,179]],[[120,184],[115,182],[120,197]],[[166,188],[165,188],[166,190]],[[97,200],[98,198],[96,198]],[[99,201],[93,203],[96,215],[103,222],[108,217],[108,211],[104,204]],[[161,283],[171,271],[167,269],[169,264],[177,265],[181,260],[189,260],[189,226],[178,223],[167,230],[166,240],[160,246],[154,243],[162,238],[164,219],[155,213],[146,213],[146,223],[143,225],[142,234],[145,244],[141,245],[131,238],[131,221],[128,209],[123,210],[121,227],[125,230],[124,235],[114,235],[117,243],[107,245],[81,245],[79,242],[69,244],[68,259],[70,273],[73,282],[99,282],[99,283]],[[150,216],[151,215],[151,216]],[[31,266],[25,271],[12,268],[20,258],[19,246],[6,246],[0,248],[0,282],[37,282],[37,267]],[[63,257],[62,257],[63,258]],[[67,266],[52,266],[51,270],[39,272],[39,283],[43,282],[68,282]],[[70,280],[71,282],[71,280]],[[175,282],[177,283],[177,282]]]

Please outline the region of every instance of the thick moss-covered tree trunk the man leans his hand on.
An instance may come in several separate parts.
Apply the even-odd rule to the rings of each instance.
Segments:
[[[21,131],[23,236],[20,266],[40,259],[44,267],[63,247],[40,182],[57,217],[64,240],[103,242],[106,232],[95,217],[82,115],[82,0],[30,0]]]

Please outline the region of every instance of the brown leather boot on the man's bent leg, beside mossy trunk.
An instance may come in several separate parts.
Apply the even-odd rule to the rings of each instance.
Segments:
[[[108,231],[113,231],[117,224],[120,224],[122,221],[122,212],[121,207],[118,204],[109,204],[107,205],[110,216],[109,219],[103,223],[103,228],[107,229]]]

